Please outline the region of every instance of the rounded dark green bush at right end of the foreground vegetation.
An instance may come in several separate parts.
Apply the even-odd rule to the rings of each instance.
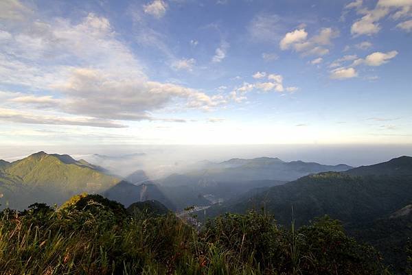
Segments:
[[[347,237],[340,222],[323,217],[297,231],[304,274],[379,274],[384,270],[378,252]]]

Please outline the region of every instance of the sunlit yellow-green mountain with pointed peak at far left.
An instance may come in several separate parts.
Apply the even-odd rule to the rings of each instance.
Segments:
[[[3,165],[0,204],[18,209],[34,202],[60,204],[77,193],[101,193],[117,182],[119,178],[84,160],[38,152]]]

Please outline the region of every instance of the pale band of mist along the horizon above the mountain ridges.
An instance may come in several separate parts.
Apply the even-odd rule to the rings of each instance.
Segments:
[[[325,165],[372,165],[412,155],[412,145],[49,145],[1,147],[0,159],[13,161],[38,151],[69,154],[126,177],[144,170],[152,180],[181,174],[201,160],[221,162],[231,158],[277,157]]]

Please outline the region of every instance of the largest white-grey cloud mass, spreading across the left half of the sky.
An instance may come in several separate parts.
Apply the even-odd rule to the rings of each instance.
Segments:
[[[78,23],[51,20],[30,18],[7,29],[13,39],[8,45],[0,45],[0,82],[34,93],[16,95],[0,106],[34,108],[33,116],[46,112],[37,118],[49,124],[74,125],[73,121],[82,116],[76,125],[93,122],[106,127],[104,123],[112,120],[176,121],[153,115],[171,104],[198,110],[225,104],[226,99],[203,91],[150,81],[138,58],[117,39],[110,22],[102,16],[88,14]],[[37,42],[27,44],[27,37]],[[190,69],[193,63],[183,60],[176,67]],[[45,95],[35,95],[38,90]],[[50,119],[56,112],[64,119]],[[22,116],[14,114],[10,121],[19,117],[21,122],[33,123]]]

